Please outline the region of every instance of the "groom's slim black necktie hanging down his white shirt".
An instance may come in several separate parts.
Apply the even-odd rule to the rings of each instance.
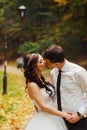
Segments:
[[[59,70],[59,74],[57,78],[57,105],[58,105],[58,110],[61,111],[62,108],[61,108],[60,83],[61,83],[61,70]]]

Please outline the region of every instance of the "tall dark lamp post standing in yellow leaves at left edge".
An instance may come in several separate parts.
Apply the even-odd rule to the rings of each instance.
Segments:
[[[3,94],[7,94],[7,36],[4,37],[4,76],[3,76]]]

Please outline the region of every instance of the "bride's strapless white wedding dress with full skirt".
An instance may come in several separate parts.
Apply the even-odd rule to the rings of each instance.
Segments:
[[[53,98],[49,98],[45,89],[41,89],[41,93],[44,96],[47,105],[52,108],[56,108]],[[35,103],[35,105],[37,105]],[[41,111],[37,105],[39,112],[28,122],[25,130],[68,130],[63,118],[54,116]]]

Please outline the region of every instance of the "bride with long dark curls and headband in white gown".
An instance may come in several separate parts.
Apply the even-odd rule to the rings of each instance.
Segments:
[[[57,110],[54,104],[55,89],[45,81],[42,75],[44,69],[45,62],[40,54],[32,53],[24,57],[26,90],[38,108],[25,130],[68,130],[63,118],[68,119],[69,114]]]

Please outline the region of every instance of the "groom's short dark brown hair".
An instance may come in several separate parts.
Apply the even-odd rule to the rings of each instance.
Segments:
[[[43,53],[44,59],[49,59],[50,62],[64,62],[64,51],[59,45],[51,45]]]

